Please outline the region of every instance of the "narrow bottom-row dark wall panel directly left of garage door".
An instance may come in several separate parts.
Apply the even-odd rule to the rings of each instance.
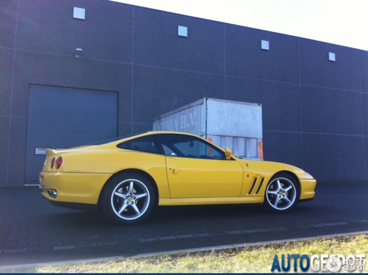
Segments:
[[[24,185],[26,117],[11,117],[7,186]]]

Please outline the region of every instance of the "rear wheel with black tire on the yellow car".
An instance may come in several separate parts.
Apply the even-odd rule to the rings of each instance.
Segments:
[[[151,213],[155,205],[155,191],[144,176],[125,173],[106,183],[100,203],[101,211],[109,221],[118,225],[135,225]]]

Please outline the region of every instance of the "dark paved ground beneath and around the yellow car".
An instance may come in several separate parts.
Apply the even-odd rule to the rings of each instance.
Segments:
[[[261,206],[158,207],[137,226],[52,206],[38,187],[0,188],[0,267],[368,230],[368,183],[317,184],[286,214]]]

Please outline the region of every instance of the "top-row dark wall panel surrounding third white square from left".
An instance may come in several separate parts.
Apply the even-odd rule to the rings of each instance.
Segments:
[[[298,38],[226,25],[226,75],[299,83]]]

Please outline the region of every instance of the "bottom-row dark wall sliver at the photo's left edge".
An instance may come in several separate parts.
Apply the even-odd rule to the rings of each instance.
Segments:
[[[0,116],[0,186],[6,186],[10,117]]]

